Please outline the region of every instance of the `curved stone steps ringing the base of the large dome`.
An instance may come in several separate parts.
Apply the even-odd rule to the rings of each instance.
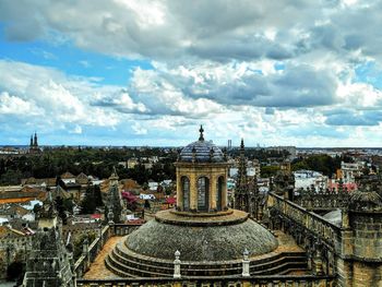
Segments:
[[[121,277],[172,277],[174,263],[138,254],[119,242],[105,260],[107,268]],[[272,253],[265,258],[252,259],[251,275],[288,274],[307,270],[307,256],[302,251]],[[226,277],[241,275],[241,260],[228,262],[182,262],[181,274],[184,277]]]

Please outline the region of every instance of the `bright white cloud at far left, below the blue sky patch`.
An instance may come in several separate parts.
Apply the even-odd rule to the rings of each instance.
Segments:
[[[58,70],[0,60],[0,113],[36,117],[50,124],[71,122],[110,127],[119,119],[88,100],[94,93],[109,93],[116,87],[100,87],[92,82],[71,79]],[[12,96],[10,96],[12,95]]]

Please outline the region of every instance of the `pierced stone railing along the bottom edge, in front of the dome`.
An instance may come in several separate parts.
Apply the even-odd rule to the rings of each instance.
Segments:
[[[334,276],[313,276],[313,275],[265,275],[250,277],[206,277],[200,279],[188,278],[123,278],[123,279],[97,279],[86,280],[77,279],[79,287],[127,287],[127,286],[187,286],[187,287],[213,287],[213,286],[335,286]]]

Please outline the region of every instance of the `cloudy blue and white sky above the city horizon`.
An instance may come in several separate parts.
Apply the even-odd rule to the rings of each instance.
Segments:
[[[381,146],[382,2],[0,0],[0,144]]]

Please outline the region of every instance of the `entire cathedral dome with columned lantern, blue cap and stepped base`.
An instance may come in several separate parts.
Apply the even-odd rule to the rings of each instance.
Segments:
[[[271,272],[264,264],[279,256],[279,241],[248,213],[228,208],[228,163],[218,147],[204,141],[202,127],[199,141],[181,151],[175,166],[177,207],[156,213],[128,235],[106,265],[123,277],[168,276],[180,252],[184,275],[240,275],[246,251],[253,272],[255,266],[256,273]]]

